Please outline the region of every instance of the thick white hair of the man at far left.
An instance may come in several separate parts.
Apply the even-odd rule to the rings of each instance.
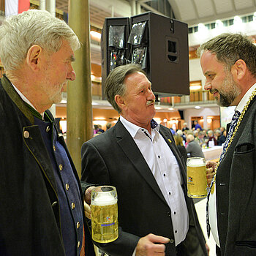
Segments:
[[[49,53],[59,50],[62,40],[72,50],[80,48],[75,32],[59,18],[42,10],[29,10],[10,16],[0,26],[0,59],[6,70],[20,67],[32,45],[39,45]]]

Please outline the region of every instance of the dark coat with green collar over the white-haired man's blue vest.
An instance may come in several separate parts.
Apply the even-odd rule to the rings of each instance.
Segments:
[[[0,255],[64,256],[50,157],[34,116],[5,77],[0,82],[0,118]],[[80,184],[62,136],[59,142]],[[93,256],[87,223],[85,233],[86,255]]]

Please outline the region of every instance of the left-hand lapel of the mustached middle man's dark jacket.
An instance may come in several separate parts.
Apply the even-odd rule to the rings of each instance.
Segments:
[[[146,180],[148,185],[157,193],[157,195],[163,200],[165,203],[165,198],[162,195],[161,190],[158,187],[157,181],[155,180],[151,170],[149,169],[143,155],[141,154],[138,146],[135,141],[132,139],[132,136],[129,134],[127,129],[125,129],[124,125],[120,120],[115,125],[116,127],[116,140],[118,145],[121,147],[124,154],[127,155],[129,160],[134,165],[135,170],[140,173],[140,175]]]

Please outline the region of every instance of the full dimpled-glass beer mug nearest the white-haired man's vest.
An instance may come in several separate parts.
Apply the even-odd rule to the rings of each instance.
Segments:
[[[91,191],[91,237],[98,243],[109,243],[118,238],[115,187],[100,186]]]

